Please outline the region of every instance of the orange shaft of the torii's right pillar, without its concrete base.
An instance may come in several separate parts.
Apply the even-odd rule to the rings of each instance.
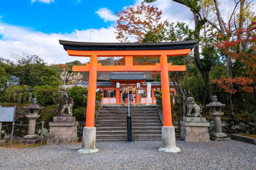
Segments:
[[[167,56],[160,56],[161,64],[161,90],[162,90],[162,103],[163,103],[163,117],[164,126],[172,126],[171,120],[171,100],[170,100],[170,86],[169,86],[169,74]]]

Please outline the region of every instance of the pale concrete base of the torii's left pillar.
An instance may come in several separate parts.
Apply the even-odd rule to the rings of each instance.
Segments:
[[[84,127],[82,130],[82,148],[78,150],[80,154],[90,154],[98,152],[96,145],[96,128]]]

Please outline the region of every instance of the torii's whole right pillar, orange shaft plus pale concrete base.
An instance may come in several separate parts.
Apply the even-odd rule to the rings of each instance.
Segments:
[[[164,126],[162,126],[162,142],[163,147],[159,148],[162,152],[180,152],[181,149],[176,147],[175,128],[171,119],[171,99],[169,90],[169,74],[167,56],[160,56],[161,66],[161,91],[163,104]]]

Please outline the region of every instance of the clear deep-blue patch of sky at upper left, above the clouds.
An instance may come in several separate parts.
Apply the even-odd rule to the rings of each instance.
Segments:
[[[118,3],[117,3],[118,2]],[[72,33],[86,28],[107,28],[112,22],[102,20],[96,11],[114,12],[134,1],[114,0],[1,0],[1,21],[43,33]]]

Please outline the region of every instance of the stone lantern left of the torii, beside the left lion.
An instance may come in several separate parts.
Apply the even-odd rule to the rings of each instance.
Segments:
[[[35,135],[35,132],[36,132],[36,119],[40,117],[40,115],[38,115],[38,110],[42,108],[36,104],[36,98],[33,98],[32,103],[28,106],[24,106],[24,108],[29,109],[29,113],[28,115],[26,115],[26,118],[28,118],[29,120],[29,125],[28,125],[28,135],[23,137],[23,140],[21,140],[21,143],[33,144],[40,140],[39,136]]]

